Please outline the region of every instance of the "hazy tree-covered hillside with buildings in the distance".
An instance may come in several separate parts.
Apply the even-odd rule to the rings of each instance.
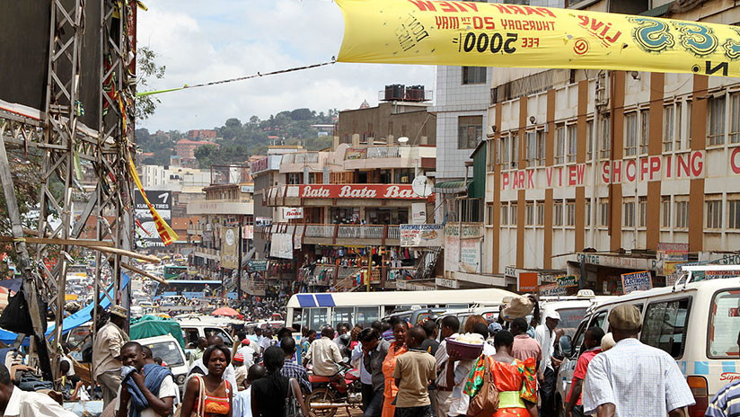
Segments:
[[[332,139],[330,136],[319,137],[318,130],[311,125],[333,124],[337,114],[336,109],[326,113],[296,109],[280,111],[266,120],[260,120],[257,116],[252,116],[246,122],[236,118],[227,119],[224,126],[214,128],[216,139],[213,141],[219,146],[201,146],[195,156],[200,168],[208,168],[212,164],[245,163],[251,155],[266,155],[269,145],[300,143],[308,150],[320,150],[330,147]],[[186,138],[186,133],[179,130],[151,133],[148,129],[137,129],[137,146],[144,154],[137,157],[138,163],[170,164],[176,142]]]

